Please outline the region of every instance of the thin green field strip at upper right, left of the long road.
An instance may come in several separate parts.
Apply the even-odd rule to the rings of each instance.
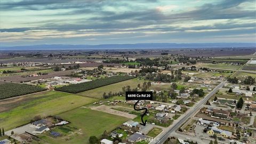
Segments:
[[[207,68],[220,68],[220,69],[239,69],[241,66],[236,66],[236,65],[230,65],[228,63],[217,63],[217,64],[212,64],[212,63],[198,63],[196,64],[196,67],[207,67]]]

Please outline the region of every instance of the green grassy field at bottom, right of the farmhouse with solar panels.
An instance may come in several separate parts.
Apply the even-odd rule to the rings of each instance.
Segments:
[[[63,137],[52,138],[42,135],[40,138],[49,143],[89,143],[89,137],[96,136],[100,138],[102,133],[113,131],[117,126],[122,125],[128,119],[121,116],[103,113],[101,111],[91,110],[88,108],[77,108],[59,115],[61,118],[70,121],[70,132],[60,131],[61,134],[66,133]],[[65,138],[69,137],[70,140]]]

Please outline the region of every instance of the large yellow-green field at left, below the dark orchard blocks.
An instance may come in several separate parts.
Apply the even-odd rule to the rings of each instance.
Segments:
[[[11,103],[12,100],[0,103],[0,108],[3,109],[6,105],[14,105],[0,113],[0,125],[5,130],[29,123],[30,119],[37,115],[41,117],[56,115],[95,101],[95,99],[55,91],[31,94],[26,96],[26,99],[17,103]]]

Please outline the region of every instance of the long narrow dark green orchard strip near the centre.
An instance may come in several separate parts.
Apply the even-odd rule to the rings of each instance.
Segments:
[[[62,86],[62,87],[56,88],[55,90],[63,91],[63,92],[70,92],[70,93],[78,93],[78,92],[83,92],[86,90],[95,89],[97,87],[126,81],[126,80],[132,79],[132,78],[134,78],[134,77],[132,77],[132,76],[113,76],[113,77],[109,77],[109,78],[96,79],[94,81],[86,82],[86,83]]]

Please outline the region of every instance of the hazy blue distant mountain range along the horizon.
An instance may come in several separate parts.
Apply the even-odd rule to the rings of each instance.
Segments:
[[[0,46],[0,50],[104,50],[104,49],[173,49],[173,48],[221,48],[256,47],[256,43],[138,43],[138,44],[100,44],[66,45],[44,44],[28,46]]]

